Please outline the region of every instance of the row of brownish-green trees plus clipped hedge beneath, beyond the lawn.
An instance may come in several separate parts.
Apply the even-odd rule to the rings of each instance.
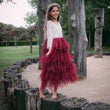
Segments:
[[[17,28],[0,22],[0,46],[36,45],[37,25]]]

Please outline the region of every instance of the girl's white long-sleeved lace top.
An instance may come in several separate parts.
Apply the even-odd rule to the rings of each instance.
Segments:
[[[61,38],[62,27],[60,23],[55,24],[53,21],[47,22],[47,49],[52,47],[53,38]]]

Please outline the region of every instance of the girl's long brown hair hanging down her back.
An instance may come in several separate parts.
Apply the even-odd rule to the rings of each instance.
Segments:
[[[54,7],[57,7],[59,9],[59,12],[60,12],[60,5],[58,3],[52,3],[51,5],[48,6],[46,16],[45,16],[45,24],[44,24],[44,38],[45,38],[45,40],[47,39],[47,21],[48,20],[54,20],[54,18],[50,14],[50,12],[52,11],[52,9]],[[59,13],[59,16],[57,18],[57,21],[59,21],[59,20],[60,20],[60,13]]]

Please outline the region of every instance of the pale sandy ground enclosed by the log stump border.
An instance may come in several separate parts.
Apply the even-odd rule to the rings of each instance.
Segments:
[[[23,74],[32,87],[40,87],[41,70],[38,64],[29,65]],[[87,58],[87,78],[60,88],[58,92],[67,97],[84,97],[89,102],[105,102],[110,104],[110,56],[103,58]]]

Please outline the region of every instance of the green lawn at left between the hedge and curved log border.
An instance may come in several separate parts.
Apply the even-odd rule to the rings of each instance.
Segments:
[[[33,46],[33,53],[30,53],[30,46],[14,46],[0,47],[0,76],[3,75],[3,71],[12,63],[36,57],[39,55],[38,45]]]

